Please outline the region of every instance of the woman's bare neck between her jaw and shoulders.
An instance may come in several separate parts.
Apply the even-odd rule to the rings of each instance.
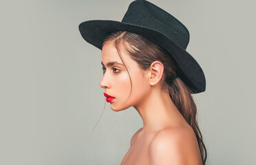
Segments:
[[[140,104],[134,106],[143,120],[143,132],[151,133],[184,124],[183,116],[171,100],[169,92],[152,89]]]

